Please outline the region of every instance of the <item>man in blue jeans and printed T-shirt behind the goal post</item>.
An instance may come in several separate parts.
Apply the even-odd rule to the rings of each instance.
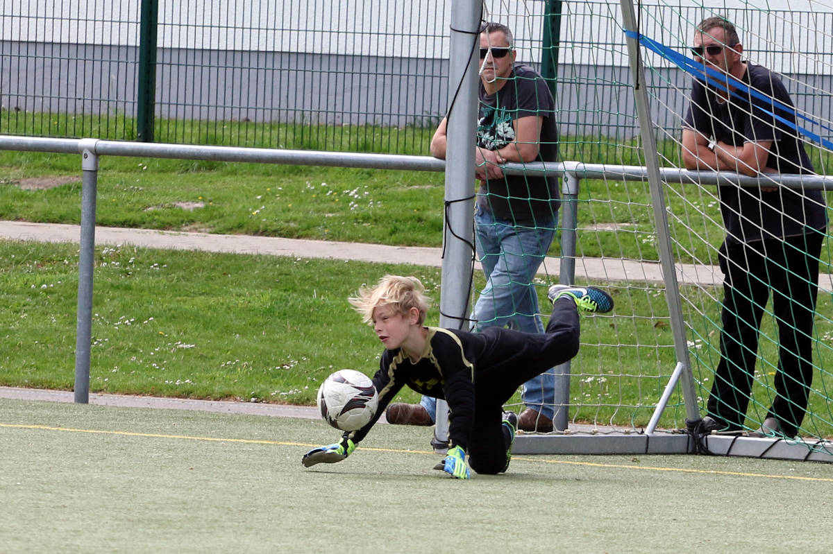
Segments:
[[[549,250],[558,221],[556,176],[505,176],[506,162],[555,161],[558,136],[555,101],[543,78],[516,65],[512,32],[486,23],[480,34],[479,113],[475,146],[477,191],[475,230],[486,287],[475,304],[472,329],[510,327],[543,333],[532,280]],[[431,139],[431,155],[446,157],[446,119]],[[526,410],[518,428],[552,431],[555,370],[527,381],[521,393]],[[433,398],[420,404],[392,404],[391,423],[431,425]]]

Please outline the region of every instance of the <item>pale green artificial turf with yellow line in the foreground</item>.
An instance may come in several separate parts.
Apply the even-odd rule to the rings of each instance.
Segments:
[[[831,464],[516,456],[456,481],[430,433],[305,468],[326,423],[0,399],[0,552],[831,551]]]

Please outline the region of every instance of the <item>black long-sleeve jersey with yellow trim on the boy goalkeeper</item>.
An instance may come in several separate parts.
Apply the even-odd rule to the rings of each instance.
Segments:
[[[456,329],[427,329],[425,351],[416,362],[402,349],[382,353],[380,369],[373,376],[379,393],[377,413],[367,425],[344,433],[344,437],[354,443],[365,438],[387,404],[407,385],[417,393],[446,400],[451,412],[449,442],[451,446],[467,448],[474,426],[475,363],[489,350],[489,339],[483,334]]]

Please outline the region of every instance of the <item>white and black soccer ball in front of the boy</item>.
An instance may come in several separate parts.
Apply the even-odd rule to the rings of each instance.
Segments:
[[[364,427],[379,405],[371,378],[353,369],[340,369],[318,389],[318,409],[324,421],[342,431]]]

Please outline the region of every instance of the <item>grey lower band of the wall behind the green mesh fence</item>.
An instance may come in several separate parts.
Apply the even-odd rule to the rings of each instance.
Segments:
[[[177,48],[162,49],[157,61],[163,118],[434,126],[446,112],[446,60]],[[0,105],[135,116],[136,68],[135,47],[0,42]],[[690,79],[671,68],[648,78],[654,121],[673,132]],[[831,121],[829,96],[818,92],[831,90],[831,77],[796,79],[786,83],[796,104]],[[626,67],[559,67],[561,133],[636,136],[630,82]]]

